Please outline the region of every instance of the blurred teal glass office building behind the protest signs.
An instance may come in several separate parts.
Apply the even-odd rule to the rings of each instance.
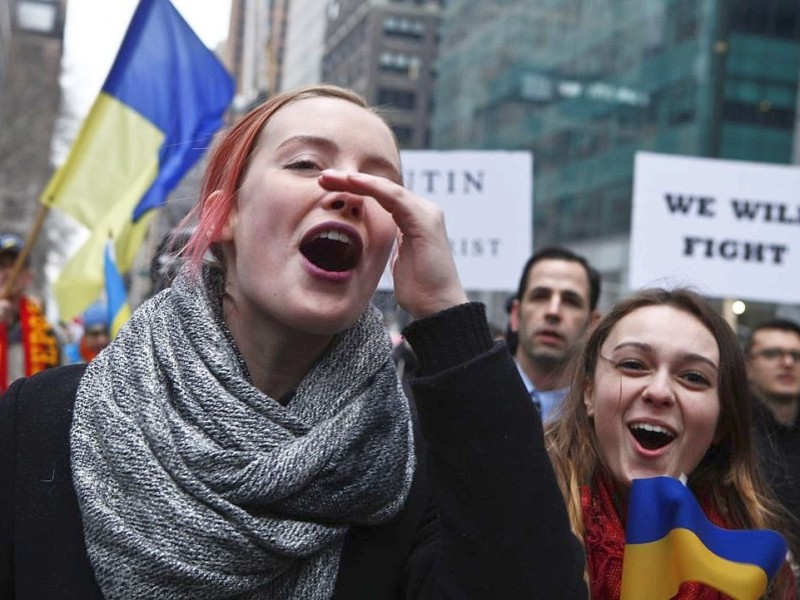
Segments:
[[[531,150],[536,247],[625,238],[637,150],[792,161],[797,0],[450,0],[442,22],[432,146]]]

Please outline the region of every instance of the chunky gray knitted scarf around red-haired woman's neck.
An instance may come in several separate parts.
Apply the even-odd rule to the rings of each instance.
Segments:
[[[182,272],[81,380],[72,475],[108,598],[330,598],[348,527],[407,498],[411,418],[379,311],[282,406],[251,383],[222,286]]]

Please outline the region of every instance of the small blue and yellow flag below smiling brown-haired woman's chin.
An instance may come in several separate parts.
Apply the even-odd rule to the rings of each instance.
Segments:
[[[774,531],[712,524],[677,479],[637,479],[631,486],[620,598],[667,600],[681,583],[699,581],[735,600],[755,600],[785,556],[786,542]]]

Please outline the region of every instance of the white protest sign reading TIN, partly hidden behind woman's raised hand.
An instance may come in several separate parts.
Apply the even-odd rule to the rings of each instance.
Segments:
[[[408,189],[442,207],[464,289],[512,290],[533,247],[533,156],[526,151],[404,150]],[[384,274],[380,289],[391,289]]]

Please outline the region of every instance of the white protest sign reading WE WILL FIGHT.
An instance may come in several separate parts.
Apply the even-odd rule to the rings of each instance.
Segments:
[[[800,303],[800,167],[636,154],[632,289]]]

